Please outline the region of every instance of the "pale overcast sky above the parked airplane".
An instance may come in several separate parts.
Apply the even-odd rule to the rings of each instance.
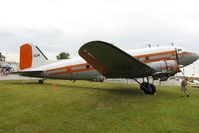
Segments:
[[[199,53],[197,0],[0,0],[0,51],[18,61],[19,46],[37,45],[49,59],[77,54],[91,40],[137,49],[183,46]],[[198,61],[199,62],[199,61]],[[199,76],[199,63],[187,74]]]

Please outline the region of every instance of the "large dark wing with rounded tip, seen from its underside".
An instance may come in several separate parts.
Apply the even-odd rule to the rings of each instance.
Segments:
[[[154,73],[148,65],[102,41],[84,44],[79,55],[106,78],[141,78]]]

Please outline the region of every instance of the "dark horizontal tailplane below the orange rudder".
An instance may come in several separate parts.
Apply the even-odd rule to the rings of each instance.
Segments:
[[[28,76],[28,77],[42,77],[44,71],[18,71],[18,72],[10,72],[8,74],[18,74],[20,76]]]

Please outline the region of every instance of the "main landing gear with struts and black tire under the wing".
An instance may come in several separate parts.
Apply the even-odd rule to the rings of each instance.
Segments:
[[[149,83],[149,77],[147,77],[147,82],[144,81],[140,83],[137,79],[134,79],[138,84],[140,84],[140,89],[148,95],[155,95],[156,94],[156,87],[153,84]]]

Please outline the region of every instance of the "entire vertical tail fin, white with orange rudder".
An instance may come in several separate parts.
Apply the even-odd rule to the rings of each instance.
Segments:
[[[23,44],[20,47],[20,70],[46,64],[48,58],[35,45]]]

